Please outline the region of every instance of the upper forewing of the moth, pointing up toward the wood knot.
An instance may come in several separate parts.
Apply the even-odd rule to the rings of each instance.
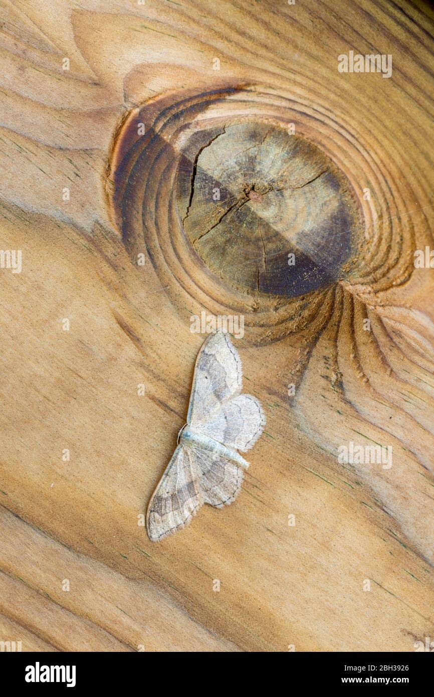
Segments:
[[[238,351],[224,332],[211,334],[196,358],[187,423],[196,426],[209,420],[225,401],[239,395],[241,388]]]

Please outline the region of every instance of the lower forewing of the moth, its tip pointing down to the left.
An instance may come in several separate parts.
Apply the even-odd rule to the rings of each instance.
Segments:
[[[151,542],[186,526],[204,503],[192,449],[178,445],[148,505],[146,529]]]

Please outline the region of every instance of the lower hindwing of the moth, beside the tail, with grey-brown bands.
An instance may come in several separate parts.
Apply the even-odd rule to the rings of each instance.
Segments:
[[[216,508],[230,505],[241,488],[242,468],[226,457],[199,448],[194,450],[203,500]]]

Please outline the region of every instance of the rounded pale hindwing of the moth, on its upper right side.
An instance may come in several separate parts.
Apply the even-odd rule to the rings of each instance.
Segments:
[[[227,447],[246,452],[258,440],[265,426],[265,414],[261,403],[251,395],[238,395],[229,399],[202,423],[201,433]]]

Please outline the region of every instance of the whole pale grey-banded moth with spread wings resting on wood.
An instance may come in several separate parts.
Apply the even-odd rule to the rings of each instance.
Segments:
[[[186,526],[203,503],[222,508],[238,495],[249,463],[237,451],[249,450],[265,426],[260,402],[241,390],[238,351],[224,332],[211,334],[196,359],[187,423],[148,505],[152,542]]]

